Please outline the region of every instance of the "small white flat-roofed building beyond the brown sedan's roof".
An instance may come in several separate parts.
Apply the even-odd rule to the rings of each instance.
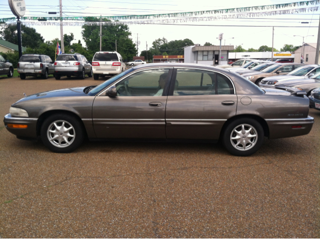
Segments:
[[[200,46],[198,44],[184,47],[184,63],[197,63],[203,65],[218,65],[220,46]],[[229,50],[233,45],[221,46],[221,65],[228,63]]]

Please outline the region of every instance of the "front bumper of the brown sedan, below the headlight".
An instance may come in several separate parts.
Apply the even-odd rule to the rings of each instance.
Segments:
[[[36,124],[37,118],[27,117],[12,117],[10,114],[4,116],[3,122],[5,128],[17,138],[36,138]],[[9,128],[8,124],[24,124],[27,125],[25,129]]]

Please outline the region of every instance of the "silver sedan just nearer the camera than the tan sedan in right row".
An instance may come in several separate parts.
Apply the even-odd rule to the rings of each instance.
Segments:
[[[307,79],[308,77],[317,74],[320,72],[320,65],[305,65],[301,66],[291,72],[287,73],[286,75],[276,75],[271,77],[266,77],[260,81],[258,84],[259,87],[272,87],[275,83],[283,82],[287,80],[299,79],[301,76]]]

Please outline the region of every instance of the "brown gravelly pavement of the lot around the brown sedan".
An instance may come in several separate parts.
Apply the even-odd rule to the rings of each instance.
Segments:
[[[105,78],[104,78],[105,79]],[[27,95],[100,80],[0,78]],[[320,111],[251,157],[220,144],[85,142],[55,154],[0,122],[0,238],[319,238]]]

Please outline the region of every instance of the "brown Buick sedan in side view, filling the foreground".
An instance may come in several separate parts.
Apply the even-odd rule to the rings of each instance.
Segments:
[[[305,92],[304,92],[305,93]],[[47,91],[12,104],[6,129],[67,153],[84,140],[221,140],[234,155],[269,139],[308,134],[302,91],[262,90],[227,70],[197,64],[132,67],[97,86]]]

